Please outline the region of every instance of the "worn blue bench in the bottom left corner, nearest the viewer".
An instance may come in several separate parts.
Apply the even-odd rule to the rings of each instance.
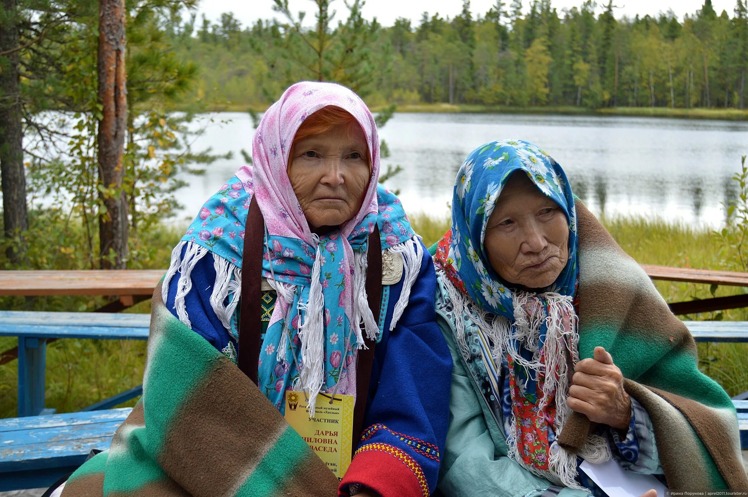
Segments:
[[[49,487],[109,448],[131,407],[0,419],[0,492]]]

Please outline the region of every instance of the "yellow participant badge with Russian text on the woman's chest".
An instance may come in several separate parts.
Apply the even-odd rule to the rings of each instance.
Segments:
[[[314,417],[309,417],[304,392],[286,392],[286,422],[327,464],[337,478],[343,478],[351,464],[353,437],[353,395],[317,395]]]

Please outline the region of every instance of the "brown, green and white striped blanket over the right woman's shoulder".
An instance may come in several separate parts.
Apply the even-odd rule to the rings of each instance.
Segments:
[[[699,372],[693,337],[640,265],[576,205],[580,356],[597,346],[613,356],[626,391],[652,419],[670,490],[748,490],[729,396]]]

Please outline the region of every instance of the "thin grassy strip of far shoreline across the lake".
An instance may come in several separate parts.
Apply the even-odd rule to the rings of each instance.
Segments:
[[[370,105],[373,112],[379,112],[387,105]],[[227,103],[206,105],[203,112],[264,112],[267,106]],[[177,106],[175,111],[186,110]],[[515,107],[506,105],[475,104],[398,104],[395,113],[414,114],[532,114],[568,116],[625,116],[625,117],[669,117],[673,119],[747,121],[748,109],[737,108],[669,108],[669,107],[604,107],[586,108],[568,106]]]

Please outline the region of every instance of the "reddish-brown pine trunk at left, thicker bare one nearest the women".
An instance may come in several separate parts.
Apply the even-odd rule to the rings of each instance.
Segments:
[[[106,208],[99,217],[102,269],[124,269],[127,265],[127,203],[122,188],[123,145],[127,127],[125,72],[125,2],[99,0],[99,200]],[[114,260],[108,257],[114,250]]]

